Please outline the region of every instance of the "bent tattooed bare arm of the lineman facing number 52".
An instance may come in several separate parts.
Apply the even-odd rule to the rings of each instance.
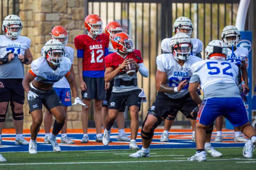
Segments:
[[[164,72],[161,72],[160,70],[156,70],[156,90],[158,92],[163,92],[163,93],[175,93],[174,89],[175,87],[171,87],[166,85],[166,79],[167,79],[167,74]],[[178,86],[177,86],[177,91],[180,92],[183,87],[185,87],[188,83],[186,82],[187,80],[181,81]]]

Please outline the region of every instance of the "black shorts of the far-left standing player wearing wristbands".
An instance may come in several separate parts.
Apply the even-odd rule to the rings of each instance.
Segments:
[[[0,88],[0,102],[9,102],[11,100],[19,104],[24,104],[25,92],[22,86],[22,80],[0,79],[4,84],[4,88]]]

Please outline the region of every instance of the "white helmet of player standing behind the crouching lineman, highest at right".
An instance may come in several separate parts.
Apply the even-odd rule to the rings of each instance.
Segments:
[[[186,29],[187,32],[181,32],[180,29]],[[191,36],[192,31],[193,31],[193,24],[191,20],[188,19],[187,17],[178,17],[175,20],[174,29],[172,30],[172,32],[174,32],[175,34],[183,33],[188,36]]]

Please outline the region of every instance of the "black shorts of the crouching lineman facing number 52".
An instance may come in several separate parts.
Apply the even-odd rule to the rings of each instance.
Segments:
[[[186,118],[192,118],[190,113],[193,109],[197,107],[196,102],[193,101],[190,94],[181,98],[170,98],[164,93],[158,93],[155,102],[152,104],[148,112],[154,112],[158,115],[158,118],[164,120],[168,115],[176,116],[174,112],[175,109],[181,111]],[[172,115],[174,114],[174,115]]]

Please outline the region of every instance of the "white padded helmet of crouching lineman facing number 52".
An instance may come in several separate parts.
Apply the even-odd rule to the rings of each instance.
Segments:
[[[188,60],[193,45],[190,36],[186,34],[176,34],[169,40],[170,52],[174,55],[175,60]]]

